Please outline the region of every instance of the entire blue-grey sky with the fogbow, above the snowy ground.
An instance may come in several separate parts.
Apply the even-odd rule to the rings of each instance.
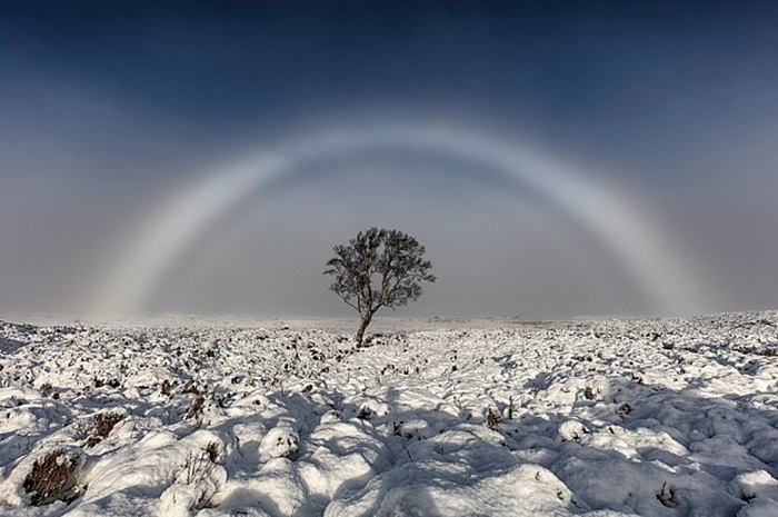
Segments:
[[[397,316],[776,308],[777,26],[757,1],[0,2],[0,314],[349,316],[322,271],[371,226],[438,277]]]

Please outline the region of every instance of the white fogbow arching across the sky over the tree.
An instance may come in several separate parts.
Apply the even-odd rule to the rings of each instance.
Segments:
[[[698,286],[690,270],[660,238],[649,215],[622,192],[513,142],[413,123],[325,131],[208,175],[179,192],[159,216],[140,228],[129,249],[108,271],[94,311],[142,312],[188,246],[236,202],[268,182],[317,159],[380,149],[439,152],[502,171],[578,221],[625,266],[656,312],[687,314],[702,306],[696,298]]]

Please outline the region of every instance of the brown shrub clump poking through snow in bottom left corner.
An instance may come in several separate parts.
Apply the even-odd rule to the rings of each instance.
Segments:
[[[73,486],[76,473],[81,463],[79,455],[57,449],[36,459],[32,470],[22,483],[33,506],[42,506],[56,500],[71,501],[77,497]]]

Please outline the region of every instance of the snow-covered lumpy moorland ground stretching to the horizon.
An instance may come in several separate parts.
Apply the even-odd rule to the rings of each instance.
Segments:
[[[0,515],[778,515],[776,312],[381,330],[0,321]]]

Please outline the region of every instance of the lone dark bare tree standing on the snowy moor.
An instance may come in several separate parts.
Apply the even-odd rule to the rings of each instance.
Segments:
[[[360,231],[348,246],[336,246],[325,275],[333,275],[330,290],[359,312],[356,341],[381,307],[395,309],[421,296],[419,282],[436,280],[432,262],[423,260],[425,247],[398,230],[376,227]]]

